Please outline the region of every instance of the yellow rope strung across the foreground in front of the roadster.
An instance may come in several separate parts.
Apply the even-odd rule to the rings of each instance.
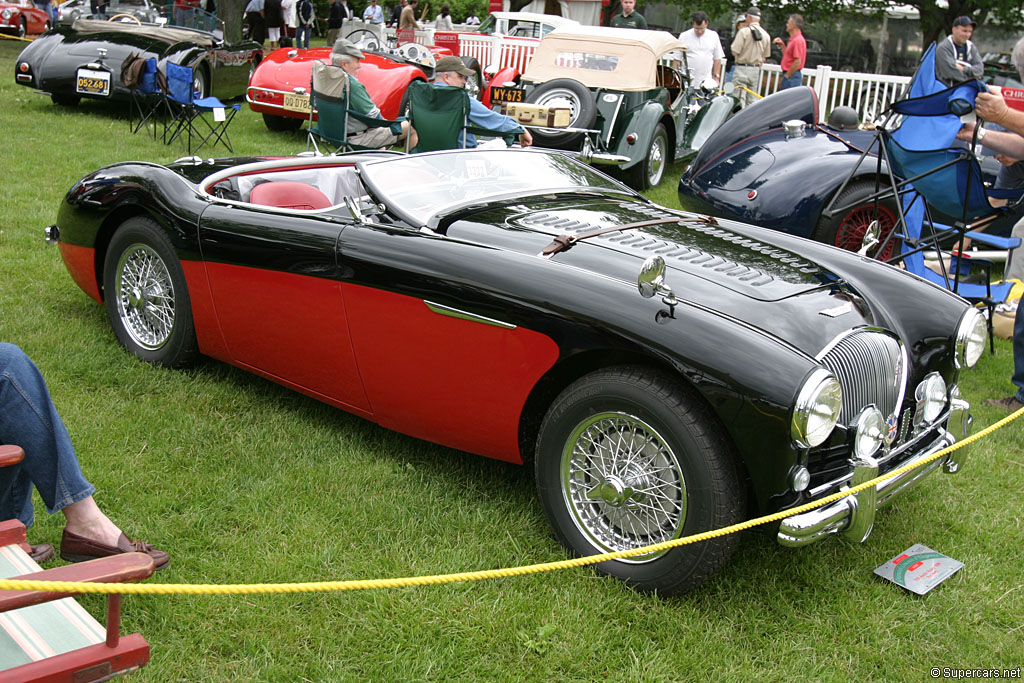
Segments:
[[[847,496],[853,496],[865,488],[876,486],[879,483],[899,476],[905,472],[926,465],[942,456],[952,453],[969,443],[987,436],[996,429],[1013,422],[1024,415],[1024,408],[1016,413],[1008,415],[995,424],[989,425],[976,434],[968,436],[963,441],[957,441],[950,446],[938,451],[928,458],[913,465],[904,465],[891,472],[887,472],[880,477],[865,481],[844,492],[826,496],[818,501],[807,503],[796,508],[776,512],[774,514],[749,519],[738,524],[725,526],[702,533],[666,541],[652,546],[634,548],[632,550],[620,550],[613,553],[603,553],[601,555],[588,555],[587,557],[577,557],[557,562],[543,562],[540,564],[526,564],[517,567],[506,567],[500,569],[482,569],[479,571],[461,571],[458,573],[432,574],[425,577],[403,577],[395,579],[365,579],[350,581],[325,581],[310,582],[304,584],[91,584],[70,581],[24,581],[19,579],[0,580],[0,590],[9,591],[58,591],[61,593],[121,593],[129,594],[158,594],[158,595],[247,595],[247,594],[272,594],[272,593],[326,593],[330,591],[365,591],[381,588],[404,588],[409,586],[432,586],[437,584],[455,584],[465,581],[483,581],[485,579],[501,579],[507,577],[521,577],[530,573],[541,573],[542,571],[555,571],[558,569],[569,569],[573,567],[597,564],[608,560],[623,559],[636,555],[646,555],[647,553],[668,550],[678,546],[686,546],[692,543],[699,543],[729,533],[736,533],[754,526],[769,524],[780,521],[793,515],[803,514],[823,505],[827,505]]]

